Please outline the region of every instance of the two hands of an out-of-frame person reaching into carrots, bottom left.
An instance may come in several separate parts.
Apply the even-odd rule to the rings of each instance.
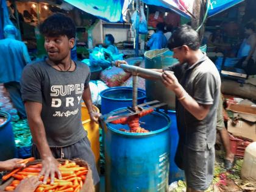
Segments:
[[[0,171],[12,171],[16,168],[24,168],[26,165],[20,162],[19,158],[12,158],[4,162],[0,162]],[[20,182],[20,184],[15,188],[14,192],[34,192],[35,189],[40,185],[41,182],[38,177],[29,177]],[[0,190],[0,192],[2,192]]]

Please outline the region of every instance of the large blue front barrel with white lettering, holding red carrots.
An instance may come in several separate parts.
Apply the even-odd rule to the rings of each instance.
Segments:
[[[107,124],[105,130],[105,191],[166,191],[169,173],[169,127],[163,112],[140,118],[148,133],[127,133],[127,125]]]

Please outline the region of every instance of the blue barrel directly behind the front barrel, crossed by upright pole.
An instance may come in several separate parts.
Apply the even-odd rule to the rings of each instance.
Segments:
[[[107,114],[121,107],[132,106],[132,87],[112,87],[101,91],[101,113]],[[146,99],[144,90],[138,88],[138,104]]]

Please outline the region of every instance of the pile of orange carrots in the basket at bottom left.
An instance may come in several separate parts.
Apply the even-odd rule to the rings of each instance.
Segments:
[[[19,169],[18,171],[12,171],[6,176],[14,177],[15,180],[10,183],[9,186],[5,187],[5,191],[13,191],[16,186],[19,185],[21,180],[31,176],[38,176],[42,168],[42,164],[29,165],[26,168]],[[47,184],[38,185],[35,192],[69,192],[69,191],[80,191],[82,185],[85,182],[88,168],[79,166],[75,162],[65,161],[63,165],[59,166],[60,172],[62,173],[62,179],[54,179],[54,183],[50,184],[48,179]],[[4,178],[4,177],[3,177]],[[41,176],[39,180],[43,181],[44,176]]]

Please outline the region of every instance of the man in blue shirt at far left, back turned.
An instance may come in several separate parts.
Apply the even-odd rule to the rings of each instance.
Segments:
[[[14,107],[21,118],[26,118],[26,112],[21,99],[20,78],[24,66],[30,63],[26,44],[15,40],[17,30],[15,26],[4,27],[5,39],[0,40],[0,83],[10,94]]]

